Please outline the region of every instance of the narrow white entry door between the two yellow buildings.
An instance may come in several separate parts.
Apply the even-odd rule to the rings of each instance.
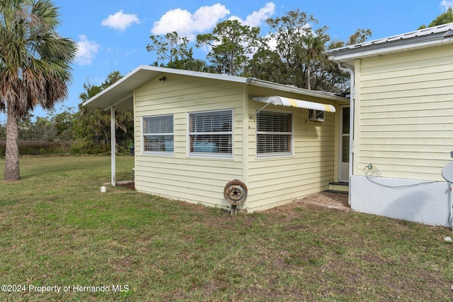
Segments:
[[[349,182],[349,106],[340,107],[340,169],[338,179]]]

